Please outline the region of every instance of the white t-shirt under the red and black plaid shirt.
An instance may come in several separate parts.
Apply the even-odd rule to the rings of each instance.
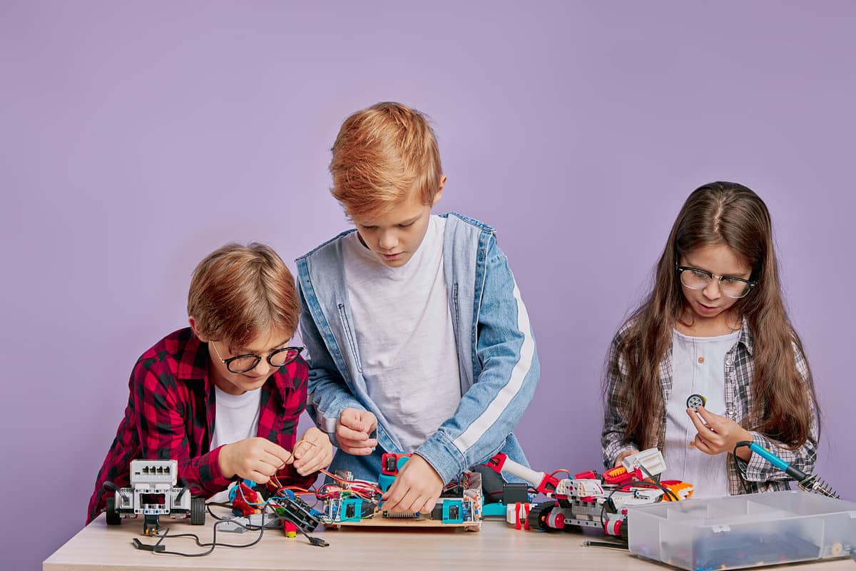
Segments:
[[[242,395],[229,395],[214,386],[214,434],[211,449],[257,436],[259,431],[259,405],[262,390],[247,390]],[[228,502],[229,491],[217,492],[213,502]]]

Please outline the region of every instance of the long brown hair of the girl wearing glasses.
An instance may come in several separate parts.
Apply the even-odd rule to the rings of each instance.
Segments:
[[[651,294],[617,339],[615,350],[628,373],[611,398],[627,420],[626,442],[642,449],[659,444],[657,430],[651,430],[660,425],[665,406],[659,365],[686,306],[675,262],[681,254],[715,244],[728,246],[744,259],[752,267],[751,279],[758,282],[734,304],[734,312],[746,318],[752,333],[754,365],[753,407],[741,425],[799,447],[811,431],[811,407],[818,411],[820,430],[811,370],[806,393],[794,358],[794,348],[804,354],[803,346],[782,301],[770,211],[758,194],[735,182],[711,182],[690,194],[669,233]],[[611,366],[617,368],[618,362],[612,360]]]

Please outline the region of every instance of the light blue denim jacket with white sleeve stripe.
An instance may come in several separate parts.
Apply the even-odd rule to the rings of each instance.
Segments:
[[[460,214],[447,218],[443,272],[461,372],[461,404],[455,415],[415,452],[444,482],[502,450],[528,466],[512,431],[538,384],[540,367],[526,306],[494,229]],[[354,478],[376,480],[383,452],[401,452],[383,411],[368,396],[362,376],[354,316],[342,263],[343,232],[297,259],[300,329],[309,353],[307,410],[336,444],[343,408],[377,417],[378,448],[353,456],[338,450],[330,468]]]

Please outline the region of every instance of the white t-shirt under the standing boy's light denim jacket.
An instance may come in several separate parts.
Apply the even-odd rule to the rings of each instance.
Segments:
[[[406,452],[455,414],[461,377],[443,272],[446,219],[431,216],[407,264],[384,265],[356,232],[342,240],[354,336],[369,396]]]

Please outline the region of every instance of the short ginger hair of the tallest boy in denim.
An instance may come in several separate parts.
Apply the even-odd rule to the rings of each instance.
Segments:
[[[431,205],[443,167],[437,138],[424,114],[400,103],[378,103],[342,123],[330,173],[348,217],[373,216],[417,193]]]

